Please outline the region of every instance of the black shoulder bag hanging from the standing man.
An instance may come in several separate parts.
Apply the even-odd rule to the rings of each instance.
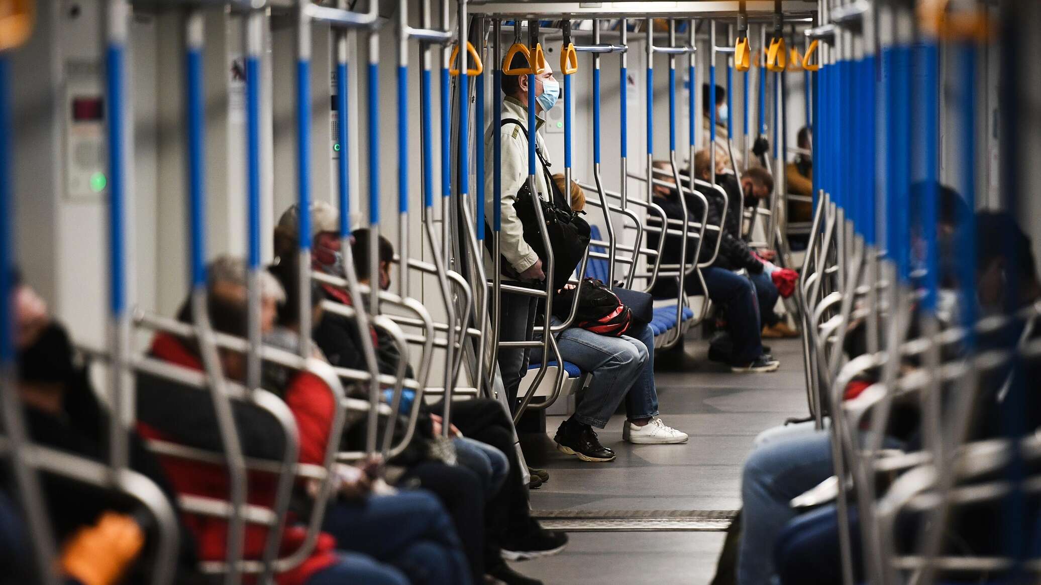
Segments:
[[[506,126],[507,124],[516,124],[520,128],[520,131],[524,132],[525,138],[528,138],[528,131],[518,121],[503,120],[502,125]],[[542,173],[545,175],[545,182],[550,186],[550,190],[553,192],[553,200],[545,201],[541,197],[532,196],[531,189],[528,188],[528,182],[525,181],[520,189],[517,190],[516,201],[513,202],[513,210],[524,226],[524,240],[528,243],[528,246],[531,246],[535,254],[542,260],[543,269],[548,269],[548,254],[545,246],[542,243],[543,226],[539,223],[538,215],[535,213],[535,202],[541,205],[542,218],[545,220],[545,233],[550,236],[550,246],[553,248],[553,287],[560,288],[570,279],[576,266],[582,261],[582,256],[585,254],[586,248],[589,247],[589,224],[582,219],[580,213],[573,211],[567,204],[567,198],[560,193],[557,183],[550,176],[545,159],[542,157],[541,149],[538,148],[537,143],[535,153],[538,155]],[[490,251],[492,241],[491,229],[487,223],[485,223],[484,229],[486,234],[485,246]],[[512,266],[510,266],[505,258],[503,258],[503,266],[505,266],[507,274],[514,277],[517,276],[511,274],[513,273]]]

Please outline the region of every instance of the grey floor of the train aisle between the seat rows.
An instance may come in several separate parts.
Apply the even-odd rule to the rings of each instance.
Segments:
[[[548,417],[544,436],[522,436],[529,464],[551,475],[532,490],[532,508],[547,528],[567,530],[570,544],[514,566],[548,584],[709,583],[722,530],[741,504],[741,464],[753,439],[807,414],[799,340],[766,342],[781,360],[770,374],[737,375],[709,362],[707,341],[693,332],[682,352],[656,356],[662,418],[690,435],[686,444],[625,443],[621,414],[600,433],[618,453],[610,463],[557,452],[552,437],[562,416]],[[605,527],[614,530],[594,531]]]

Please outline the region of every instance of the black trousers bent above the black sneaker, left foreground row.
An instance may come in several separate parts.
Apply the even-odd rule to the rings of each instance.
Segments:
[[[439,405],[432,407],[438,412]],[[506,455],[510,468],[499,493],[485,512],[485,563],[501,561],[503,539],[508,533],[524,533],[531,524],[528,490],[520,481],[520,461],[513,444],[513,421],[502,404],[491,399],[457,401],[452,404],[452,424],[463,436],[490,444]]]

